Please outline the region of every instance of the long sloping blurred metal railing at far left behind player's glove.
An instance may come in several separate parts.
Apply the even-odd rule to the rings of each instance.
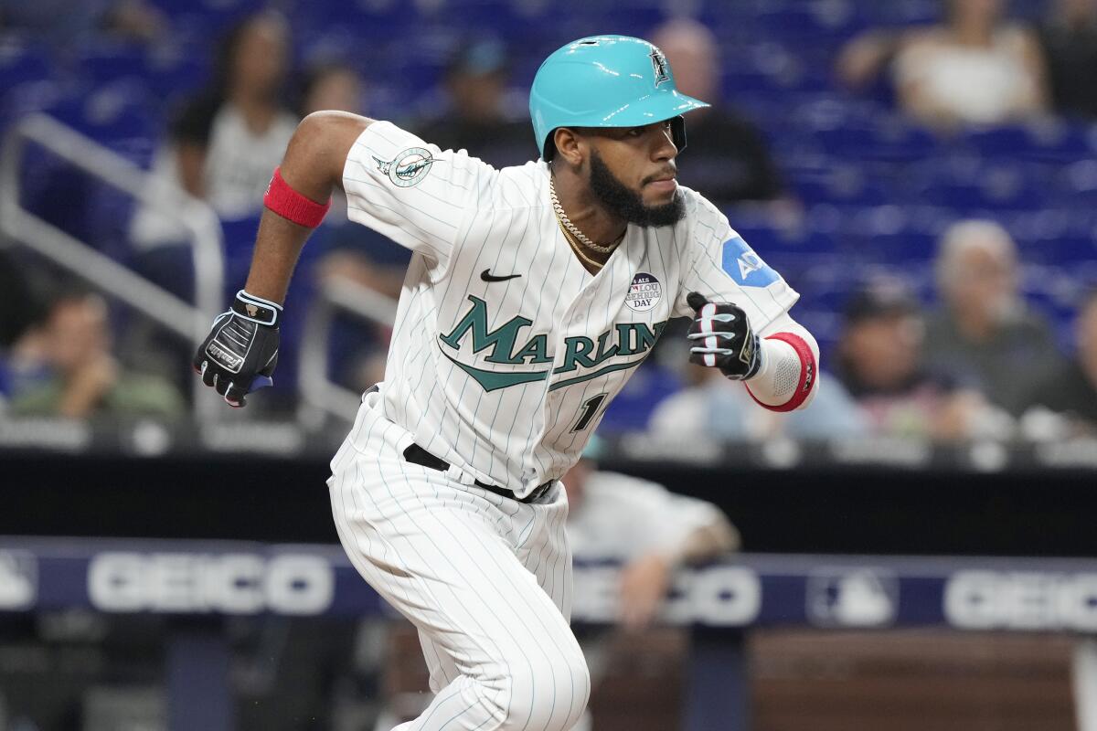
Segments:
[[[135,274],[93,247],[23,208],[20,168],[27,142],[132,195],[177,222],[194,260],[194,305]],[[220,311],[225,278],[220,222],[213,209],[178,185],[166,184],[99,142],[45,114],[24,117],[8,132],[0,151],[0,230],[99,287],[168,331],[197,345]],[[194,408],[204,419],[225,413],[220,398],[194,379]]]

